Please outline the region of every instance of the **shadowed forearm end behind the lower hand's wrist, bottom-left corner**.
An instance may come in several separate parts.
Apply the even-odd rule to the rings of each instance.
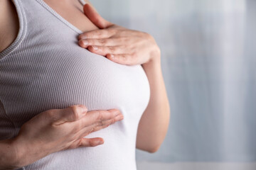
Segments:
[[[16,147],[11,140],[0,141],[0,169],[18,169]]]

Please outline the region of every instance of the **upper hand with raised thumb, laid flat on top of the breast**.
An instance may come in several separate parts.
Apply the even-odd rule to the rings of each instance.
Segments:
[[[136,65],[160,60],[159,46],[148,33],[110,23],[89,4],[85,4],[84,13],[100,30],[80,34],[81,47],[119,64]]]

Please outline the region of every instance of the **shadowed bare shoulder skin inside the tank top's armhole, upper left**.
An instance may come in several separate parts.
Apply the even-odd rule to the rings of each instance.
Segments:
[[[0,0],[0,52],[5,50],[18,35],[18,15],[10,0]]]

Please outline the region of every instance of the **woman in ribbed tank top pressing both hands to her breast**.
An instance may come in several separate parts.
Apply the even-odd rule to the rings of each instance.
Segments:
[[[154,38],[73,0],[3,0],[0,22],[1,169],[131,170],[135,147],[159,149],[169,102]]]

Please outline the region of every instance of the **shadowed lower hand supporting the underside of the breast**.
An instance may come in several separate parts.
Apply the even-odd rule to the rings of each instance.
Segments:
[[[18,166],[26,166],[63,149],[101,145],[104,141],[100,137],[84,137],[122,119],[117,109],[87,112],[82,105],[44,111],[25,123],[13,140]]]

